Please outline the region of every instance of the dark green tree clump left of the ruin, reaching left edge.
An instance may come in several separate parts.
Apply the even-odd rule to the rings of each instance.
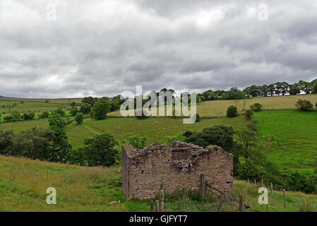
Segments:
[[[0,131],[0,154],[28,157],[48,162],[104,167],[113,165],[119,157],[117,142],[109,134],[86,139],[82,148],[73,149],[64,131],[66,121],[60,114],[49,115],[49,128],[33,128],[22,133]]]

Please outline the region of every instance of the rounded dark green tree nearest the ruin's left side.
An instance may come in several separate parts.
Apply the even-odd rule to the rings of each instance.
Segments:
[[[107,133],[96,135],[94,138],[86,139],[84,144],[83,156],[89,166],[109,167],[116,162],[119,151],[114,148],[116,141],[113,136]]]

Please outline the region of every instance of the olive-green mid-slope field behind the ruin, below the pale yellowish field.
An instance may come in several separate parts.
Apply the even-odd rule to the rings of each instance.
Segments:
[[[85,138],[91,138],[95,134],[109,133],[116,139],[121,140],[128,133],[140,134],[148,137],[147,144],[154,141],[161,141],[165,136],[172,136],[181,131],[202,131],[204,128],[214,125],[224,124],[233,126],[234,129],[244,128],[246,119],[244,117],[236,117],[227,119],[225,117],[216,119],[202,119],[195,124],[183,124],[183,119],[172,119],[163,117],[151,117],[149,119],[140,120],[134,117],[130,118],[111,118],[95,121],[92,119],[85,119],[80,126],[77,124],[69,124],[66,126],[66,133],[68,141],[74,147],[83,145]],[[1,123],[0,131],[12,129],[16,133],[32,129],[33,127],[47,127],[47,119],[37,119],[31,121],[16,121],[9,123]]]

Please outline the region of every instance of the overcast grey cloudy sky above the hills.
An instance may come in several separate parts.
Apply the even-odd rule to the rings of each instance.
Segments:
[[[0,95],[311,81],[316,28],[313,0],[0,0]]]

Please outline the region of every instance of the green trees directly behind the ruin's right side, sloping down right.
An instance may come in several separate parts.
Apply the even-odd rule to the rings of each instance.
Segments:
[[[265,181],[282,184],[280,172],[276,165],[268,162],[259,150],[256,132],[250,129],[234,131],[229,126],[213,126],[201,132],[186,131],[184,141],[203,148],[218,145],[234,156],[234,175],[239,179],[265,179]],[[237,137],[237,141],[234,140]]]

